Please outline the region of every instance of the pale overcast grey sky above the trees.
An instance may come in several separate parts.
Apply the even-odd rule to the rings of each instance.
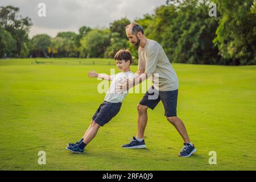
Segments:
[[[38,4],[46,4],[46,17],[38,16]],[[20,15],[32,19],[30,37],[59,31],[78,32],[81,26],[109,27],[114,20],[127,17],[131,21],[164,5],[166,0],[0,0],[0,6],[19,7]]]

